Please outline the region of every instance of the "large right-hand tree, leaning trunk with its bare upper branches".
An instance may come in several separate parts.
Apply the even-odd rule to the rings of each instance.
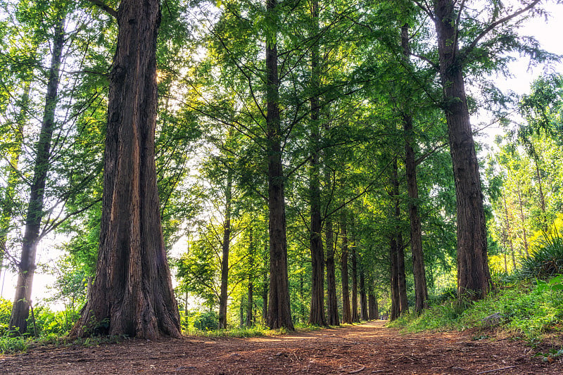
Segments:
[[[467,96],[464,84],[464,68],[471,60],[486,53],[476,53],[480,42],[493,30],[529,11],[540,0],[524,3],[514,13],[503,14],[500,4],[494,4],[491,20],[479,22],[476,36],[464,41],[460,49],[462,13],[467,11],[465,1],[434,0],[432,8],[423,8],[434,20],[438,42],[438,66],[443,88],[443,108],[448,123],[448,140],[452,157],[457,200],[457,289],[460,298],[483,298],[489,289],[491,274],[488,269],[487,234],[483,210],[483,193],[479,163],[472,134]],[[475,35],[475,34],[474,34]],[[491,46],[519,48],[514,37],[499,32],[495,38],[484,42]],[[526,50],[526,48],[523,48]],[[531,49],[528,48],[528,51]],[[494,53],[493,53],[494,55]],[[493,57],[494,58],[494,57]]]

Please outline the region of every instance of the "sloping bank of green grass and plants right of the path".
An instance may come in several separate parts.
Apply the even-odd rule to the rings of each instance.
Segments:
[[[434,305],[422,314],[401,317],[388,326],[405,332],[452,331],[465,329],[496,329],[514,338],[529,342],[541,341],[550,333],[563,332],[563,291],[555,282],[520,281],[512,286],[498,288],[487,298],[476,302],[450,299]],[[500,313],[498,322],[486,319]]]

